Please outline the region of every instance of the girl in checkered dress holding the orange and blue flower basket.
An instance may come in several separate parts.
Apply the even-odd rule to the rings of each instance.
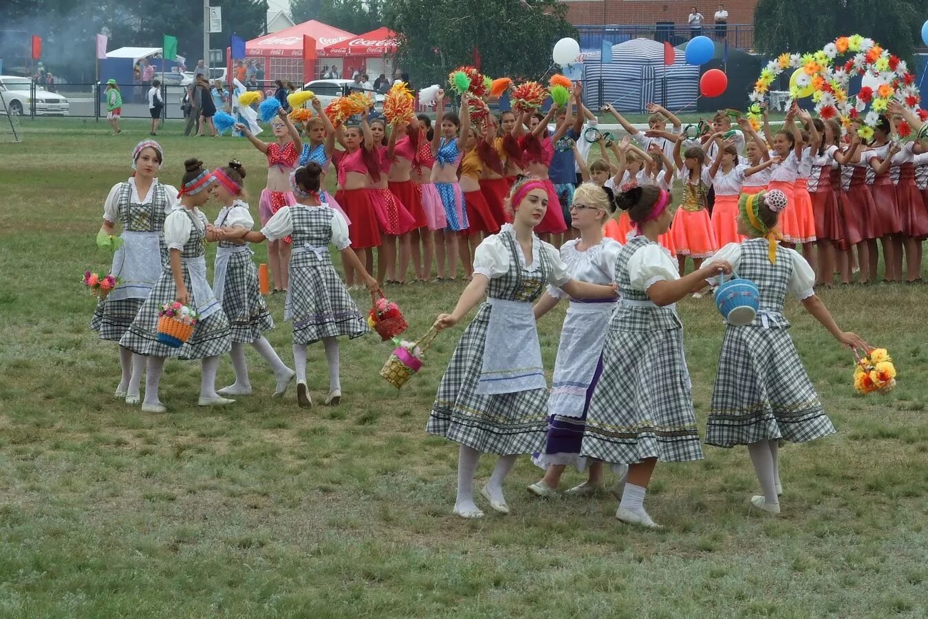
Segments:
[[[216,178],[203,169],[203,162],[197,159],[184,161],[184,167],[180,205],[164,220],[163,239],[169,261],[120,340],[121,346],[135,354],[148,355],[142,410],[150,413],[166,410],[158,397],[158,387],[164,360],[168,357],[202,360],[199,406],[234,402],[220,396],[215,388],[219,355],[229,351],[232,341],[226,314],[206,280],[206,242],[218,240],[219,235],[198,208],[213,195]],[[174,301],[189,305],[200,315],[193,335],[180,348],[158,341],[158,312],[165,303]]]

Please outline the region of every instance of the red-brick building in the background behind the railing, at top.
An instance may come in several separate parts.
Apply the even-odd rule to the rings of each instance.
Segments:
[[[568,7],[567,19],[581,24],[652,24],[673,21],[686,25],[690,8],[696,6],[706,23],[713,23],[718,2],[707,0],[561,0]],[[728,23],[753,23],[757,0],[728,0]]]

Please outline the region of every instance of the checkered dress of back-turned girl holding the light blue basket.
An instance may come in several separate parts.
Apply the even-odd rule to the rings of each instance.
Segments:
[[[581,457],[612,464],[702,459],[677,311],[651,303],[631,284],[628,262],[649,243],[643,236],[629,239],[615,263],[622,300],[603,347]]]

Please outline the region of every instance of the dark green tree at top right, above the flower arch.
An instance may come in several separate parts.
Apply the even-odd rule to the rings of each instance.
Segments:
[[[869,36],[900,58],[912,58],[924,0],[760,0],[754,45],[767,56],[818,51],[845,34]],[[804,19],[807,18],[807,19]]]

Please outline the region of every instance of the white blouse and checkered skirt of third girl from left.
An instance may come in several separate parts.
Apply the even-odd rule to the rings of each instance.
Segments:
[[[224,206],[214,224],[216,227],[242,226],[251,230],[254,219],[248,204],[241,200]],[[213,293],[226,312],[232,330],[232,342],[251,343],[264,331],[274,329],[274,319],[267,311],[258,286],[258,269],[251,261],[254,251],[248,243],[237,244],[220,240],[213,269]]]

